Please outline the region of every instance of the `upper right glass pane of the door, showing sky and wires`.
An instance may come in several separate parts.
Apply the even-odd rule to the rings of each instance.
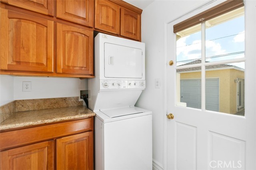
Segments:
[[[205,22],[206,61],[244,57],[244,7]]]

